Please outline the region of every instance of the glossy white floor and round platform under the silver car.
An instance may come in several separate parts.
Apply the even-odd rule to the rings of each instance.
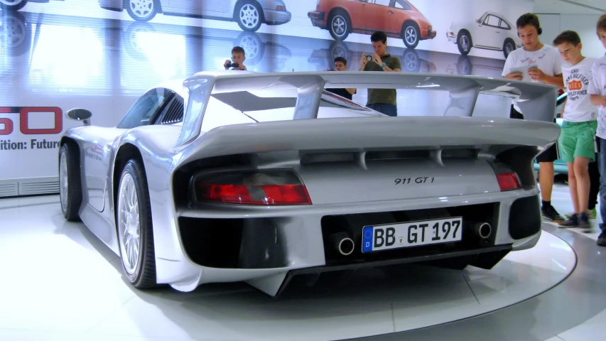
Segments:
[[[58,197],[0,200],[0,215],[0,274],[11,278],[0,281],[0,340],[362,337],[487,313],[556,286],[575,266],[570,246],[543,232],[491,271],[367,270],[347,286],[294,286],[278,300],[243,283],[142,292],[124,282],[112,251],[63,220]]]

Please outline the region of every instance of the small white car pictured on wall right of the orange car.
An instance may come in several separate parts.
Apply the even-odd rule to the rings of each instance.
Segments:
[[[503,51],[505,58],[520,44],[516,44],[517,30],[499,13],[486,12],[474,22],[458,21],[450,25],[446,32],[450,43],[455,43],[462,55],[472,48]]]

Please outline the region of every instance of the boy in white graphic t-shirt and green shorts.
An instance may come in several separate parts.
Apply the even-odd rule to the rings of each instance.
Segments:
[[[568,98],[562,110],[562,129],[558,143],[563,161],[568,164],[568,188],[575,213],[560,227],[589,227],[589,171],[595,158],[594,137],[597,130],[597,107],[588,94],[591,68],[595,59],[581,54],[583,44],[576,32],[564,31],[553,40],[564,61],[564,85]]]

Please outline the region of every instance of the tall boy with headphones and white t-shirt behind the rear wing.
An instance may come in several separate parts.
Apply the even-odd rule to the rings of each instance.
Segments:
[[[542,82],[555,85],[563,89],[562,61],[558,49],[553,46],[544,45],[539,40],[543,32],[539,24],[539,17],[533,13],[526,13],[516,21],[518,36],[522,41],[522,48],[509,53],[503,67],[503,76],[509,80],[523,80],[523,72],[516,72],[518,68],[526,72],[532,82]],[[536,67],[532,67],[536,65]],[[554,90],[555,91],[555,90]],[[555,113],[554,113],[555,114]],[[512,118],[523,119],[524,114],[520,112],[515,104],[512,106]],[[553,118],[555,121],[556,118]],[[536,161],[539,162],[539,183],[541,184],[541,214],[552,222],[564,222],[556,209],[551,205],[551,191],[553,190],[553,178],[556,175],[553,169],[553,161],[558,159],[558,144],[544,150]]]

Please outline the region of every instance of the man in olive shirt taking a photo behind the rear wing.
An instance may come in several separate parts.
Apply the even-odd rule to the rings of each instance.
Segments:
[[[366,53],[362,55],[359,68],[360,71],[384,71],[401,72],[402,66],[400,58],[394,57],[386,52],[387,36],[378,31],[370,36],[374,54],[372,60],[367,60]],[[383,114],[396,117],[398,116],[396,89],[369,89],[366,106],[370,109],[382,112]]]

